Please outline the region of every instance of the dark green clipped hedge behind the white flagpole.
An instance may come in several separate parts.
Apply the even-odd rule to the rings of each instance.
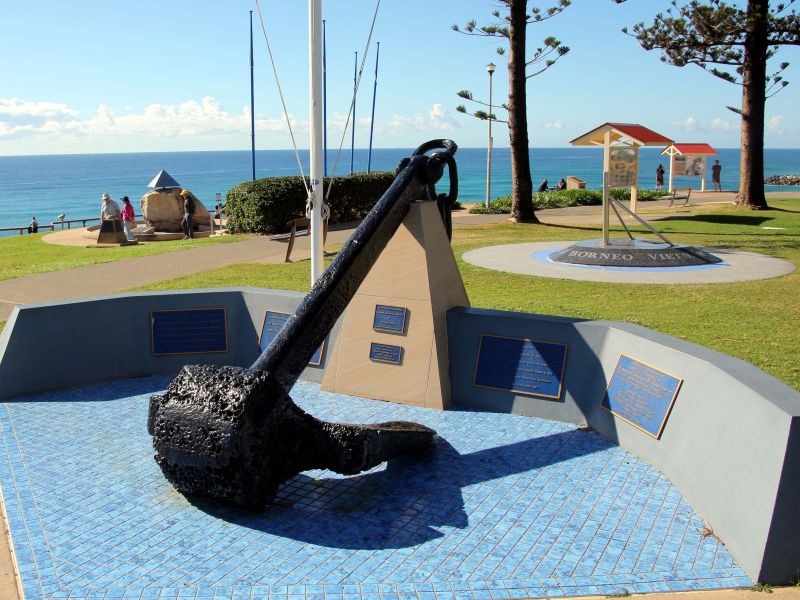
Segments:
[[[363,219],[395,174],[388,171],[353,173],[336,177],[328,205],[329,223],[347,223]],[[327,193],[330,178],[326,177]],[[250,232],[269,235],[288,231],[286,223],[305,215],[306,191],[299,175],[267,177],[245,181],[228,191],[225,216],[233,233]]]

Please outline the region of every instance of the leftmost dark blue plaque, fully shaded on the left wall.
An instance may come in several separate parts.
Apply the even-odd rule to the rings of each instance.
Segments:
[[[227,352],[224,308],[187,308],[150,312],[153,354]]]

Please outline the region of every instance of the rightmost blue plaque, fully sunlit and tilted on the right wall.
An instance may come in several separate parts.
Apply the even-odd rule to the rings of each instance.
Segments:
[[[682,379],[620,354],[600,406],[659,439],[682,383]]]

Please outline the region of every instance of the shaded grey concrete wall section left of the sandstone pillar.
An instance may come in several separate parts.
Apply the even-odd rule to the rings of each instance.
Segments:
[[[239,288],[148,292],[17,307],[0,334],[0,400],[110,379],[177,373],[185,364],[250,366],[258,356],[264,311],[292,312],[304,294]],[[224,308],[228,350],[154,355],[150,311]],[[339,325],[329,336],[323,355]],[[319,382],[322,368],[303,378]]]

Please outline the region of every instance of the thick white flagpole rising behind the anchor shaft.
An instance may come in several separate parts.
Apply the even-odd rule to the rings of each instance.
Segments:
[[[311,285],[325,270],[322,242],[322,0],[308,0],[309,116],[311,122]]]

